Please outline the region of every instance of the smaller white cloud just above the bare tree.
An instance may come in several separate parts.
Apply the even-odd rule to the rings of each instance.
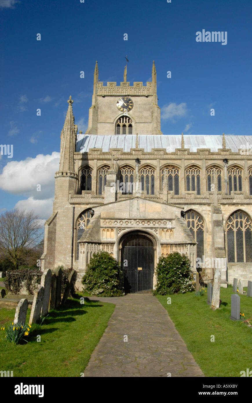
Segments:
[[[42,226],[45,223],[45,220],[48,220],[52,214],[53,202],[53,197],[45,200],[36,200],[33,197],[29,197],[26,200],[19,200],[14,208],[26,211],[34,210],[34,214],[35,216],[39,216],[39,221]]]

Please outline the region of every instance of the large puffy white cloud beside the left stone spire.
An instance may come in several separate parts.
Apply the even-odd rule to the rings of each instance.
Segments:
[[[38,154],[35,158],[8,162],[0,174],[0,189],[38,200],[53,197],[54,174],[59,168],[60,153]],[[37,191],[41,185],[41,191]]]

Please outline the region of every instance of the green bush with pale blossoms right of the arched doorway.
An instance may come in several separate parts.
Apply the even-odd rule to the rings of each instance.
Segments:
[[[157,264],[157,286],[154,295],[179,294],[192,291],[194,283],[190,269],[190,260],[178,252],[161,256]]]

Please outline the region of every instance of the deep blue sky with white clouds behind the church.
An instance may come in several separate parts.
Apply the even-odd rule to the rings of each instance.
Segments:
[[[85,132],[95,60],[100,81],[120,83],[127,55],[130,85],[155,60],[165,135],[251,135],[250,0],[0,0],[0,22],[0,143],[13,145],[0,156],[2,212],[52,213],[67,100]],[[196,42],[202,29],[226,31],[227,44]]]

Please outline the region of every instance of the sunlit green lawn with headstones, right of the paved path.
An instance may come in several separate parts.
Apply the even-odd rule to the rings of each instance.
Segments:
[[[167,305],[167,296],[157,295],[205,376],[240,377],[240,371],[252,370],[252,327],[230,320],[231,294],[232,287],[221,288],[223,304],[215,311],[207,305],[207,293],[202,297],[194,292],[170,295],[171,305]],[[240,312],[249,319],[252,298],[240,297]]]

